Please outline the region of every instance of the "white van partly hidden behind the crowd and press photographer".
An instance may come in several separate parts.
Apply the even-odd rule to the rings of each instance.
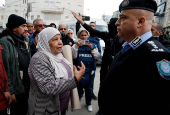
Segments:
[[[67,26],[67,29],[72,29],[74,32],[74,42],[76,43],[78,41],[78,37],[76,35],[76,22],[77,20],[75,18],[70,19],[70,20],[64,20],[60,21],[60,24],[65,24]],[[90,21],[85,21],[86,24],[89,24],[90,22],[95,22],[96,23],[96,29],[99,31],[107,31],[108,32],[108,27],[106,22],[104,22],[102,19],[95,19],[91,18]],[[101,58],[96,62],[97,64],[101,64],[102,62],[102,57],[103,57],[103,52],[105,48],[105,42],[100,39],[100,45],[101,45]]]

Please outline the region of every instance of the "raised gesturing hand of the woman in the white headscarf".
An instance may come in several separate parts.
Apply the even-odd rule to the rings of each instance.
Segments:
[[[81,78],[83,77],[85,69],[86,69],[85,65],[81,61],[81,67],[78,66],[79,71],[77,70],[76,66],[73,66],[73,68],[74,68],[74,76],[77,78],[77,81],[80,81]]]

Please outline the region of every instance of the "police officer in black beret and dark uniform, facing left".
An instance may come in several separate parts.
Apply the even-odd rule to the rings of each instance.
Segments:
[[[102,115],[170,115],[170,52],[153,36],[154,0],[123,0],[116,22],[126,42],[98,95]]]

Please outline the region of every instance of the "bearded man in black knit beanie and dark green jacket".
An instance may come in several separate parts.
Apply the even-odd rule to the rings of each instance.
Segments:
[[[0,35],[2,59],[12,95],[11,114],[26,115],[28,109],[30,62],[29,39],[26,36],[26,20],[15,14],[8,18],[8,29]]]

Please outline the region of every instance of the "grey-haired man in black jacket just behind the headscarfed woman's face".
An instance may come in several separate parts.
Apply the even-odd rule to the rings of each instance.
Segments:
[[[67,26],[65,24],[60,24],[58,27],[58,31],[61,32],[63,46],[64,45],[73,46],[74,44],[73,39],[67,35]]]

